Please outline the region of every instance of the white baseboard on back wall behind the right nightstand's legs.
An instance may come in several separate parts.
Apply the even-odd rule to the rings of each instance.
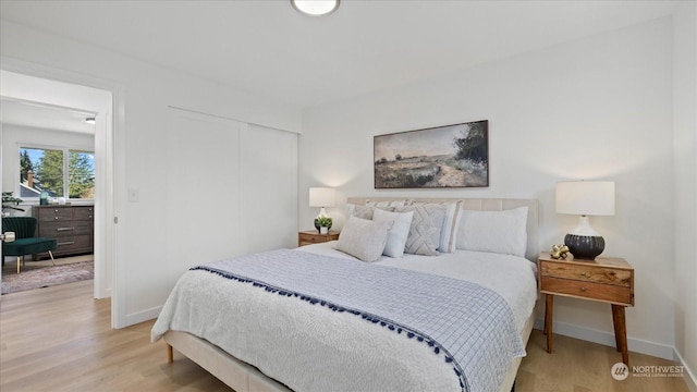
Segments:
[[[536,319],[535,328],[539,330],[543,330],[545,320]],[[580,339],[583,341],[594,342],[594,343],[598,343],[598,344],[602,344],[611,347],[614,347],[615,345],[614,333],[612,332],[598,331],[589,328],[568,324],[565,322],[554,322],[552,326],[552,330],[554,331],[554,333],[558,333],[564,336]],[[660,343],[648,342],[641,339],[634,339],[634,338],[627,336],[627,347],[629,348],[629,351],[636,352],[636,353],[651,355],[651,356],[670,359],[670,360],[676,359],[675,347],[671,347],[669,345],[664,345]]]

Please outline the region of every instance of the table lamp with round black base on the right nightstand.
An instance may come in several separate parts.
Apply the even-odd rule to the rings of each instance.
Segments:
[[[555,194],[557,213],[579,216],[578,225],[564,236],[564,245],[574,258],[595,259],[604,250],[606,241],[590,226],[588,216],[614,215],[614,182],[561,182]]]

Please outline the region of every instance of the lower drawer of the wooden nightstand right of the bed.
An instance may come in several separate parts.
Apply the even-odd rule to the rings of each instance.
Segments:
[[[632,287],[613,284],[601,284],[579,280],[542,277],[540,292],[567,294],[591,299],[607,301],[616,304],[632,305]]]

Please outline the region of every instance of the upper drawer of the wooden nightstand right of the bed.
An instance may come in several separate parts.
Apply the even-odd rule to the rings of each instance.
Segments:
[[[623,287],[632,285],[632,271],[606,267],[579,266],[564,262],[541,262],[541,275],[573,279],[584,282],[612,284]]]

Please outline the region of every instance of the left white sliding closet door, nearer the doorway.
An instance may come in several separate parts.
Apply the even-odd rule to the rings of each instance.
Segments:
[[[167,254],[194,266],[244,252],[240,135],[246,124],[170,109],[167,135]]]

